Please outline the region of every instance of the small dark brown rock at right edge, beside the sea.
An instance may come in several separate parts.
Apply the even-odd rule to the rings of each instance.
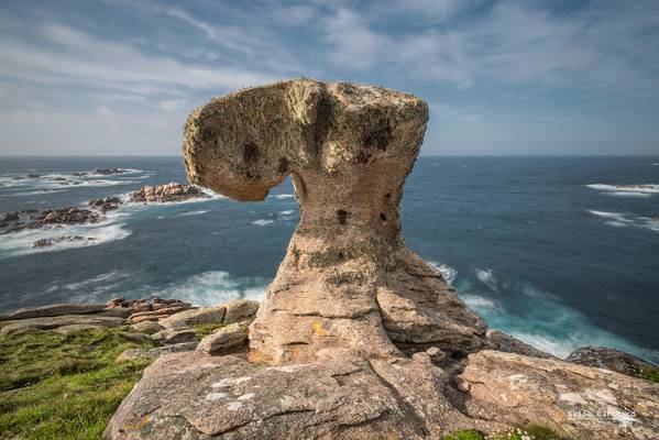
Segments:
[[[606,369],[633,377],[642,377],[651,372],[659,373],[657,365],[652,365],[640,358],[602,346],[583,346],[576,349],[570,353],[565,362]]]

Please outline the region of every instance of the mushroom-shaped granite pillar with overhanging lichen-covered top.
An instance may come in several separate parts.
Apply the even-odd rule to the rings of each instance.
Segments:
[[[263,200],[288,175],[295,186],[300,222],[251,326],[253,362],[483,344],[485,323],[399,234],[427,120],[413,95],[310,79],[230,94],[189,117],[190,182],[238,200]]]

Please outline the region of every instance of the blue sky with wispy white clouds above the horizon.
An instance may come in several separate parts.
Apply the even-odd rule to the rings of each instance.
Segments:
[[[0,154],[180,154],[307,76],[430,105],[422,154],[658,154],[659,1],[3,1]]]

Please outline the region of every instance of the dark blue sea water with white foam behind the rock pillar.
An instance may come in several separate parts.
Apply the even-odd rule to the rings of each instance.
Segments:
[[[132,172],[72,176],[97,167]],[[44,176],[13,179],[29,173]],[[6,157],[0,212],[168,182],[185,182],[180,157]],[[659,362],[659,190],[615,188],[642,184],[659,184],[659,157],[424,156],[403,233],[491,328],[559,356],[604,345]],[[297,221],[286,182],[264,202],[133,205],[95,226],[0,235],[0,312],[117,296],[259,299]],[[64,234],[95,240],[31,248]]]

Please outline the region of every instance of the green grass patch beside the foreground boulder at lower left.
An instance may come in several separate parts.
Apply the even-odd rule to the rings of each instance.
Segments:
[[[125,329],[0,336],[0,438],[100,439],[149,360],[114,363]]]

